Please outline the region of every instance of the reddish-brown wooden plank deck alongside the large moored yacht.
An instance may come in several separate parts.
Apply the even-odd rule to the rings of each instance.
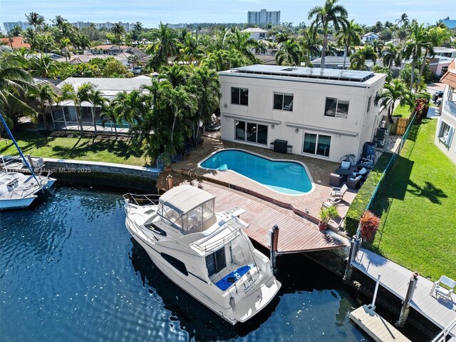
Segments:
[[[341,248],[343,243],[332,236],[322,233],[318,226],[295,213],[279,208],[271,203],[239,193],[212,183],[202,183],[202,189],[216,197],[215,210],[243,208],[241,219],[249,223],[247,235],[268,248],[267,233],[274,226],[279,226],[279,253],[298,253]],[[290,214],[290,213],[291,214]]]

